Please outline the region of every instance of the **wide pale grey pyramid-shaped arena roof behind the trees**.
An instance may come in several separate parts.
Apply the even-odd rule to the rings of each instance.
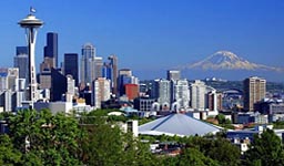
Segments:
[[[170,114],[139,126],[139,134],[194,136],[220,132],[222,128],[186,114]]]

